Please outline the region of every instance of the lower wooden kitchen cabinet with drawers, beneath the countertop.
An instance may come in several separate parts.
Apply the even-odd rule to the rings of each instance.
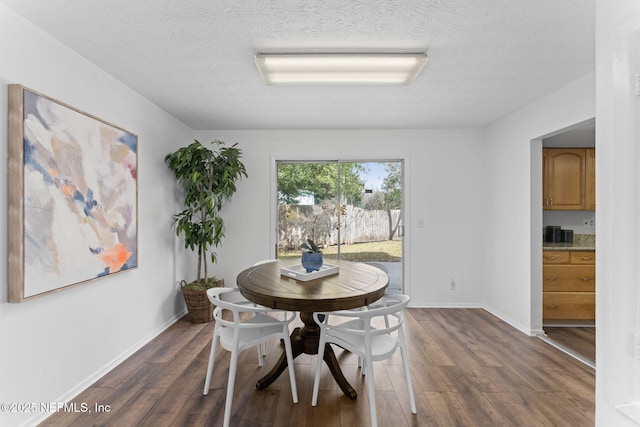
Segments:
[[[543,322],[595,320],[595,261],[595,251],[543,251]]]

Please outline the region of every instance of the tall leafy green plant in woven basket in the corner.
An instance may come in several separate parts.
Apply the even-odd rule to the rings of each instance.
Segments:
[[[183,281],[182,295],[187,303],[192,322],[202,323],[213,319],[213,308],[206,290],[224,286],[224,281],[209,277],[207,260],[216,262],[216,253],[224,237],[224,221],[220,210],[236,192],[236,181],[247,177],[240,161],[242,151],[237,144],[226,146],[223,141],[211,142],[213,149],[198,140],[175,152],[164,160],[168,164],[184,193],[184,210],[173,215],[175,233],[184,236],[185,249],[197,251],[196,280]]]

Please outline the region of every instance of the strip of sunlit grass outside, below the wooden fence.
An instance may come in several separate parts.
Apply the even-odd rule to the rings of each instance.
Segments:
[[[338,246],[329,246],[322,249],[324,259],[336,259],[338,257]],[[402,241],[384,240],[381,242],[356,243],[353,245],[342,245],[340,247],[341,259],[358,262],[399,262],[402,260]],[[299,258],[301,251],[282,251],[278,253],[278,258],[292,259]]]

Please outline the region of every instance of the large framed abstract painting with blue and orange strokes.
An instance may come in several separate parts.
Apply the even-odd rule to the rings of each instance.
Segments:
[[[9,301],[137,267],[138,137],[9,85]]]

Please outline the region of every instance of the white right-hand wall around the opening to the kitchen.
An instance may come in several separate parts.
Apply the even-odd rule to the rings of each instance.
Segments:
[[[486,129],[486,196],[491,211],[484,227],[489,234],[483,303],[530,334],[542,328],[541,138],[594,115],[595,74],[591,73]]]

